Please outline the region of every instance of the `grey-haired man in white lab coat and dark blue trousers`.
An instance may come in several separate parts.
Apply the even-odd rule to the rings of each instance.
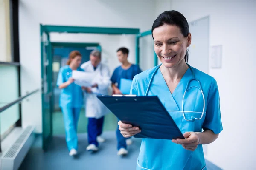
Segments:
[[[90,61],[81,65],[85,72],[95,74],[93,86],[85,88],[85,113],[88,117],[88,142],[86,150],[98,151],[99,142],[104,142],[100,135],[104,116],[110,113],[108,108],[102,104],[97,95],[108,95],[110,82],[110,72],[107,65],[101,63],[101,53],[94,50],[90,53]]]

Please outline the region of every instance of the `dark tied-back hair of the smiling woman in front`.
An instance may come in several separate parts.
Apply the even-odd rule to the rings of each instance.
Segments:
[[[180,28],[181,33],[184,37],[187,37],[189,34],[189,23],[186,18],[178,11],[164,11],[160,14],[156,20],[154,20],[151,33],[153,37],[153,31],[155,28],[163,26],[164,24],[175,25]],[[153,37],[154,40],[154,37]],[[185,61],[188,62],[189,53],[186,51]]]

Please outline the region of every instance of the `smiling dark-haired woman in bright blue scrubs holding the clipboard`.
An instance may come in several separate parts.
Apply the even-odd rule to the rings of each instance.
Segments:
[[[187,64],[192,37],[182,14],[163,12],[151,31],[162,65],[137,74],[131,94],[157,95],[185,139],[142,139],[137,170],[206,170],[202,144],[214,142],[222,130],[217,82]],[[124,137],[141,131],[121,121],[118,124]]]

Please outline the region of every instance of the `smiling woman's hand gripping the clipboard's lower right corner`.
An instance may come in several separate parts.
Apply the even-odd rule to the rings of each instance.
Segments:
[[[183,134],[185,139],[172,139],[172,142],[181,144],[186,150],[194,151],[200,142],[200,138],[195,132],[186,132]]]

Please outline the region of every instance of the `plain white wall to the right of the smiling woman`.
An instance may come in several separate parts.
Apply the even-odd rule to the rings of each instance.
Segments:
[[[221,97],[223,131],[206,158],[225,170],[256,169],[255,0],[171,0],[191,22],[210,16],[210,46],[222,45],[222,68],[211,69]],[[193,35],[192,35],[193,41]]]

